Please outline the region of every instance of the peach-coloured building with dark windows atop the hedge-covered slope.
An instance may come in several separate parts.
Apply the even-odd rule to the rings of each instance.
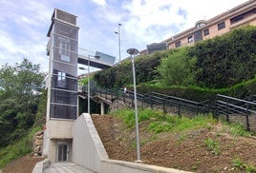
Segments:
[[[195,27],[164,40],[167,48],[192,46],[195,43],[222,35],[241,26],[256,26],[256,1],[249,0],[231,10],[217,15],[207,21],[198,21]]]

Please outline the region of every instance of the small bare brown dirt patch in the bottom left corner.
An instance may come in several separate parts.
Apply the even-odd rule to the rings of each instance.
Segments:
[[[8,163],[4,168],[4,173],[29,173],[32,172],[34,165],[40,161],[42,158],[33,158],[32,155],[26,155],[11,163]]]

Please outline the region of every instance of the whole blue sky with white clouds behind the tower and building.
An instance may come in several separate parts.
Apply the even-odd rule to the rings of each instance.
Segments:
[[[77,16],[78,52],[119,60],[128,48],[146,49],[247,0],[0,0],[0,67],[24,58],[48,71],[47,32],[54,9]]]

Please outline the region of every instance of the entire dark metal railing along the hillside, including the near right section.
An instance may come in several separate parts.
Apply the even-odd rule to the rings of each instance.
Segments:
[[[87,93],[87,86],[82,88],[83,92]],[[103,87],[90,87],[91,96],[98,95],[106,100],[113,101],[114,99],[122,99],[124,103],[129,100],[133,103],[134,92],[127,90],[124,93],[121,89],[108,89]],[[253,96],[252,98],[255,98]],[[215,98],[205,100],[203,102],[195,102],[179,97],[168,96],[159,92],[151,92],[150,94],[137,93],[137,99],[140,106],[151,106],[162,109],[165,113],[172,112],[177,113],[180,117],[182,111],[183,114],[196,114],[199,113],[213,113],[215,118],[225,117],[226,122],[238,122],[241,123],[241,117],[245,117],[245,127],[247,130],[251,130],[250,121],[254,122],[256,130],[256,102],[245,101],[242,99],[232,98],[218,94]],[[176,108],[176,110],[174,110]],[[238,119],[239,117],[240,119]],[[230,121],[230,118],[232,121]],[[251,119],[251,120],[250,120]],[[236,121],[238,120],[238,121]]]

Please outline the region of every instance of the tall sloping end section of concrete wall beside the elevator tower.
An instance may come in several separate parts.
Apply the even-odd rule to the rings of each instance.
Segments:
[[[100,172],[100,161],[102,159],[108,159],[108,155],[88,113],[84,113],[78,117],[73,125],[72,133],[73,162],[95,172]]]

